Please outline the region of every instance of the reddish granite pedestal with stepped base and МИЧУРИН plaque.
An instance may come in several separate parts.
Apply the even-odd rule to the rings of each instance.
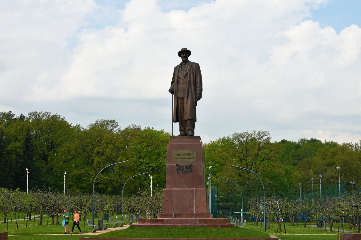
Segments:
[[[172,136],[167,145],[162,213],[134,227],[234,227],[211,218],[205,189],[204,147],[199,136]]]

